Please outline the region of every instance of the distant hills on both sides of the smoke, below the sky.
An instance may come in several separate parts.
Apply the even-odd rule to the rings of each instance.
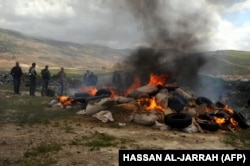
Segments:
[[[38,68],[49,65],[50,68],[57,69],[61,66],[77,70],[120,69],[124,65],[123,60],[132,51],[56,41],[0,28],[0,71],[9,71],[16,61],[26,71],[32,62],[36,62]],[[242,75],[250,78],[250,52],[219,50],[201,54],[206,58],[206,63],[200,70],[202,74]]]

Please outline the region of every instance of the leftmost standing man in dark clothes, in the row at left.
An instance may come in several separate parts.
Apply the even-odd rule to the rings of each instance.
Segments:
[[[13,78],[14,93],[20,94],[21,76],[23,72],[22,72],[21,67],[19,66],[19,62],[16,62],[16,66],[14,66],[11,69],[10,74],[12,75],[12,78]]]

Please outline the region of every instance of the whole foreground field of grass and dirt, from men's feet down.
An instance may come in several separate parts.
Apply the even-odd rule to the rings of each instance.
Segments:
[[[78,115],[79,107],[47,107],[50,97],[14,95],[0,87],[0,165],[118,165],[119,149],[249,149],[249,130],[184,133],[127,122],[130,111],[110,108],[114,122]],[[119,123],[125,123],[120,126]]]

